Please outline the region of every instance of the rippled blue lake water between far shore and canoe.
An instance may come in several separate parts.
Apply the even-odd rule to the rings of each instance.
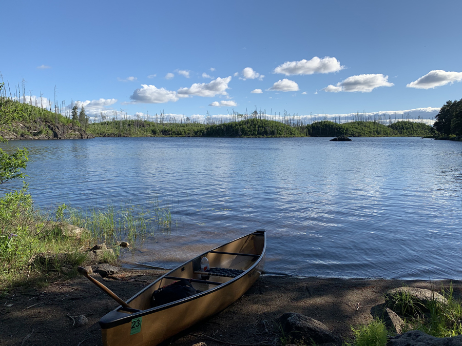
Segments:
[[[96,138],[2,148],[28,148],[37,207],[117,207],[156,196],[168,206],[170,232],[124,252],[127,267],[173,268],[264,228],[268,273],[462,279],[462,143],[329,139]]]

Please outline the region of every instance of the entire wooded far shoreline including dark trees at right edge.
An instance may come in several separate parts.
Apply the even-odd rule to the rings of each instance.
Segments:
[[[0,88],[1,90],[1,88]],[[0,95],[1,96],[1,95]],[[313,121],[284,113],[278,118],[265,112],[233,112],[229,119],[213,119],[208,113],[204,123],[189,117],[176,119],[163,112],[147,118],[130,118],[113,111],[92,121],[83,106],[72,104],[69,114],[55,105],[54,110],[0,97],[0,135],[5,139],[76,139],[93,137],[392,137],[418,136],[460,140],[462,134],[462,99],[447,101],[432,126],[422,119],[371,119],[356,113],[354,121]]]

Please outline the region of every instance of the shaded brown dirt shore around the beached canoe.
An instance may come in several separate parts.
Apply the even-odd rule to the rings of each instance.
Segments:
[[[110,290],[126,300],[165,272],[122,270],[118,279],[103,279]],[[351,325],[371,321],[388,289],[400,286],[438,289],[450,281],[383,279],[323,279],[262,275],[245,295],[218,315],[196,324],[165,344],[207,346],[228,344],[279,345],[276,319],[297,312],[324,323],[343,339]],[[462,296],[462,281],[452,281],[454,296]],[[360,308],[357,309],[357,306]],[[11,305],[11,306],[10,306]],[[43,289],[16,288],[0,300],[0,345],[102,345],[99,319],[118,304],[84,277],[59,280]],[[69,316],[85,315],[88,323],[73,326]],[[214,340],[215,339],[215,340]],[[219,342],[219,341],[223,342]]]

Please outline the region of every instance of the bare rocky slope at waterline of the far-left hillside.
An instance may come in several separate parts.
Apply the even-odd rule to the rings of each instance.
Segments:
[[[0,131],[0,136],[6,140],[15,139],[87,139],[94,138],[74,124],[43,123],[38,120],[34,124],[13,123],[10,130]]]

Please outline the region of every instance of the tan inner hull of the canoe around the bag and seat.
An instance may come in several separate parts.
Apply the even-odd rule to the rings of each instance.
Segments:
[[[207,257],[210,263],[210,268],[236,269],[238,270],[238,273],[239,271],[245,272],[251,268],[262,255],[265,247],[264,242],[264,232],[257,231],[244,237],[238,238],[223,246],[210,250],[186,263],[183,263],[180,267],[168,272],[157,281],[151,283],[146,289],[130,298],[127,303],[133,309],[147,310],[151,308],[152,293],[159,288],[177,281],[177,279],[174,278],[186,278],[201,281],[202,274],[200,274],[200,261],[204,256]],[[227,254],[220,252],[225,252]],[[217,276],[212,274],[209,276],[208,281],[215,282],[214,284],[194,281],[191,282],[191,284],[195,289],[204,292],[219,287],[217,283],[226,283],[233,279],[233,277],[225,277],[221,275]],[[161,307],[157,307],[156,309],[159,308]],[[117,311],[125,312],[120,310],[120,307],[117,309]]]

